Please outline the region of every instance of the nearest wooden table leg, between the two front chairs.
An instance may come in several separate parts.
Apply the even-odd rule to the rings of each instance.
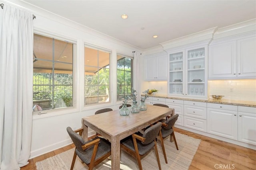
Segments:
[[[111,138],[111,170],[120,170],[120,139]]]

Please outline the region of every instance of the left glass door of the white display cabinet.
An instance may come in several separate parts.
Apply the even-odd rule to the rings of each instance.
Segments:
[[[183,95],[183,52],[169,55],[169,93]]]

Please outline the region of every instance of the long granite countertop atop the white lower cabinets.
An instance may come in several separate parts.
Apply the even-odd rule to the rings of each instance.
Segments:
[[[176,100],[188,100],[194,102],[206,102],[206,103],[216,103],[216,104],[229,104],[234,106],[247,106],[247,107],[256,107],[256,102],[251,101],[242,101],[242,100],[227,100],[227,99],[193,99],[193,98],[179,98],[179,97],[170,97],[166,95],[156,94],[152,95],[149,94],[148,97],[154,98],[166,98],[166,99],[176,99]]]

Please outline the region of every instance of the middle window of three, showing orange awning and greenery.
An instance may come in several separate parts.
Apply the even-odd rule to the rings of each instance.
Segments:
[[[110,102],[110,51],[84,47],[84,105]]]

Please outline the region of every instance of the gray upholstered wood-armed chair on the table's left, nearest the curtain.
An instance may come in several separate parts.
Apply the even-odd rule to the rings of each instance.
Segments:
[[[94,166],[98,165],[111,155],[111,144],[106,139],[95,137],[86,142],[81,137],[83,131],[82,128],[73,131],[71,127],[67,127],[67,131],[76,146],[70,170],[74,168],[76,155],[89,167],[89,170],[92,170]],[[78,132],[79,135],[77,134]]]

